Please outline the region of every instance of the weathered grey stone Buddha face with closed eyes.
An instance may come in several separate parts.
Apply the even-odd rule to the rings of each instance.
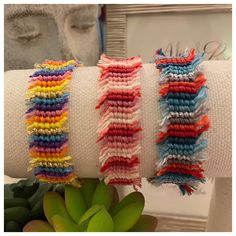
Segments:
[[[98,5],[5,5],[5,70],[33,68],[45,59],[99,57]]]

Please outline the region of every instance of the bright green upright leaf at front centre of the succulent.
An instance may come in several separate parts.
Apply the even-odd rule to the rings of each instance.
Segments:
[[[113,230],[113,220],[105,208],[91,218],[87,228],[87,232],[113,232]]]

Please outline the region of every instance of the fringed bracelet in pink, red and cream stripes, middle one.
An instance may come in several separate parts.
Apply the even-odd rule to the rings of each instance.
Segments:
[[[106,184],[133,185],[137,189],[141,187],[141,58],[113,59],[102,55],[98,67],[100,173]]]

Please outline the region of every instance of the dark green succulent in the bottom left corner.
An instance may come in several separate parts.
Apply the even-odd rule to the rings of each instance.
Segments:
[[[35,178],[4,185],[4,228],[21,232],[30,220],[46,220],[43,196],[48,191],[63,193],[64,186],[39,183]]]

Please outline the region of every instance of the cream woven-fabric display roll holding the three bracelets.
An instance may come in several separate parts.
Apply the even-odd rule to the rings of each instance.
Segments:
[[[209,145],[205,165],[207,177],[231,176],[231,61],[203,63],[209,86],[209,117],[211,128],[207,132]],[[5,174],[27,177],[28,142],[24,125],[25,93],[28,76],[34,70],[8,71],[5,73]],[[97,124],[99,113],[95,110],[98,96],[97,67],[78,68],[71,81],[70,96],[70,152],[76,173],[81,177],[97,177],[99,173],[99,145]],[[154,64],[145,64],[141,70],[142,152],[141,176],[154,173],[157,158],[156,132],[160,119],[156,96],[158,72]],[[73,127],[73,128],[72,128]]]

